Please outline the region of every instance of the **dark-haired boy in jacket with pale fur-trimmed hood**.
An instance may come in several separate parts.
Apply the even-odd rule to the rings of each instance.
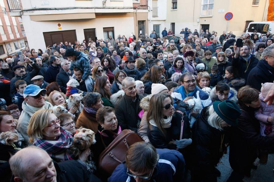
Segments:
[[[237,91],[230,88],[227,83],[220,81],[217,85],[209,91],[209,96],[212,103],[215,101],[231,100],[234,103],[238,103]]]

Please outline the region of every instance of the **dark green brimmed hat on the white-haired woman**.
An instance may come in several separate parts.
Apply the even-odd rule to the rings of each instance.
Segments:
[[[223,102],[215,101],[213,109],[226,123],[231,126],[237,126],[241,110],[236,103],[231,100],[224,100]]]

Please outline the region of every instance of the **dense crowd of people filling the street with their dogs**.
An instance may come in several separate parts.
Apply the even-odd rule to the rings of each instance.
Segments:
[[[184,181],[190,171],[191,181],[217,181],[228,147],[228,181],[250,176],[257,157],[265,165],[274,35],[243,34],[237,47],[233,32],[181,33],[59,42],[0,59],[2,180]],[[126,129],[143,141],[107,175],[100,154]],[[87,132],[93,142],[76,153]]]

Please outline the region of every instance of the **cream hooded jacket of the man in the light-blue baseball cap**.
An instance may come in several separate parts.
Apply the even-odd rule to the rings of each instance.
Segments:
[[[29,126],[29,121],[30,117],[37,111],[41,109],[53,109],[53,106],[51,103],[45,101],[45,105],[41,108],[35,107],[36,110],[33,110],[32,106],[28,105],[26,101],[22,103],[22,109],[23,111],[21,112],[21,115],[18,119],[18,124],[16,129],[18,130],[19,133],[24,137],[26,145],[29,145],[28,141],[30,140],[30,136],[27,134],[28,126]]]

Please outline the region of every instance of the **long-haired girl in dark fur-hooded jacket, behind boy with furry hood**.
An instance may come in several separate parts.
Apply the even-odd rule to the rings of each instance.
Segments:
[[[237,91],[245,85],[245,80],[238,77],[237,70],[233,66],[227,66],[223,81]]]

